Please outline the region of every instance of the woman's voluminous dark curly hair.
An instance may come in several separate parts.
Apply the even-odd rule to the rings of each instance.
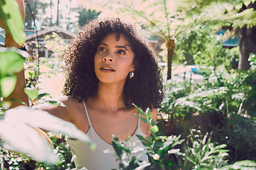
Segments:
[[[119,18],[90,21],[65,50],[63,94],[79,98],[80,101],[97,94],[99,80],[94,72],[94,57],[98,45],[110,33],[116,33],[117,40],[119,35],[124,35],[134,52],[134,77],[128,78],[124,85],[125,105],[134,103],[143,111],[146,108],[160,108],[164,89],[156,53],[132,25],[123,23]]]

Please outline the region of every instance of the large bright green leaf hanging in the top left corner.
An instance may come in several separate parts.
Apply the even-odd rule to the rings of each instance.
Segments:
[[[4,21],[14,40],[19,45],[23,45],[26,34],[24,33],[21,11],[15,0],[0,0],[0,18]]]

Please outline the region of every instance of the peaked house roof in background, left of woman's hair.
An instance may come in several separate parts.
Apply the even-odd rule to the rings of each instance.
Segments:
[[[63,30],[62,28],[60,28],[58,26],[53,26],[53,27],[45,27],[43,30],[39,30],[37,34],[33,33],[31,35],[27,35],[26,41],[35,40],[37,35],[38,35],[38,38],[44,39],[46,37],[46,35],[49,35],[53,32],[57,33],[58,35],[60,35],[61,38],[64,38],[64,39],[71,39],[76,36],[75,33],[70,33],[68,30]]]

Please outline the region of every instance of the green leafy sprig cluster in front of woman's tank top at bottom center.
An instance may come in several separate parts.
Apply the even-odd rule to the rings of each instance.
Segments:
[[[134,105],[135,106],[135,105]],[[184,140],[180,140],[181,136],[162,136],[158,135],[159,128],[156,125],[153,118],[151,118],[150,110],[147,109],[146,113],[142,109],[137,108],[139,114],[137,114],[144,123],[149,123],[151,136],[145,139],[144,137],[137,135],[144,147],[137,147],[135,145],[124,146],[122,141],[119,141],[117,137],[112,140],[112,145],[117,155],[117,162],[119,169],[171,169],[175,167],[175,161],[173,155],[184,156],[178,149],[178,145]],[[139,157],[134,155],[143,149],[146,149],[146,153],[149,156],[149,162],[142,162]]]

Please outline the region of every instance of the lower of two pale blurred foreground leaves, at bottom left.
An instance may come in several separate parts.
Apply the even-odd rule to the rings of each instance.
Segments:
[[[58,161],[48,140],[25,123],[1,120],[0,135],[6,149],[28,154],[39,162],[55,164]]]

